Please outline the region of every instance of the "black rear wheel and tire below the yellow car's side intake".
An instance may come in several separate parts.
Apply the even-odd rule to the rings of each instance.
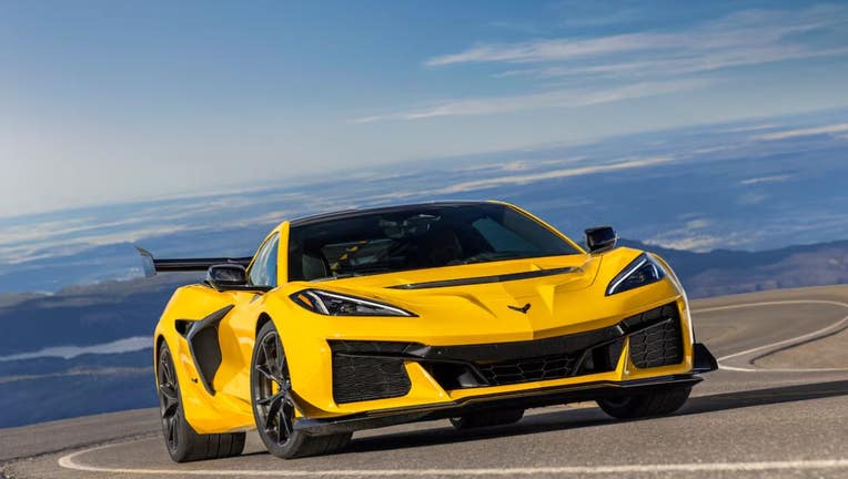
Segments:
[[[176,378],[171,350],[165,343],[159,347],[157,386],[162,435],[171,459],[175,462],[189,462],[242,453],[244,432],[200,435],[185,420],[180,383]]]

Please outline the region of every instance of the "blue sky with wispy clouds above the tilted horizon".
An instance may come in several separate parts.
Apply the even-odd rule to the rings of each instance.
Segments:
[[[0,217],[844,108],[846,79],[846,2],[0,0]]]

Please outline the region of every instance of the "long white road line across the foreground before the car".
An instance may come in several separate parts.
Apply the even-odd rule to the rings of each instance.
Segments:
[[[125,444],[125,442],[124,442]],[[137,469],[87,466],[77,462],[77,457],[102,450],[98,446],[83,449],[59,459],[59,466],[83,472],[111,472],[121,475],[149,476],[250,476],[250,477],[432,477],[432,476],[532,476],[532,475],[609,475],[609,473],[657,473],[657,472],[749,472],[804,469],[848,469],[848,459],[758,461],[758,462],[694,462],[619,466],[556,466],[527,468],[482,468],[482,469],[324,469],[324,470],[261,470],[261,469]],[[281,461],[282,462],[282,461]]]

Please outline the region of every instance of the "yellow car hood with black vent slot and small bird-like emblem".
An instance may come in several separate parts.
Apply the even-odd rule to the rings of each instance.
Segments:
[[[369,297],[417,315],[362,320],[354,329],[372,339],[396,338],[405,330],[414,330],[430,344],[467,340],[470,335],[474,343],[535,339],[604,322],[597,302],[587,300],[597,293],[590,286],[600,262],[600,256],[589,255],[514,259],[315,282],[310,286]],[[603,298],[603,288],[599,295]]]

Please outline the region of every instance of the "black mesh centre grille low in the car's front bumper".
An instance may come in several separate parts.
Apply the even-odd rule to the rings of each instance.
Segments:
[[[571,376],[577,358],[567,355],[549,355],[477,364],[477,370],[493,386],[509,385]]]

